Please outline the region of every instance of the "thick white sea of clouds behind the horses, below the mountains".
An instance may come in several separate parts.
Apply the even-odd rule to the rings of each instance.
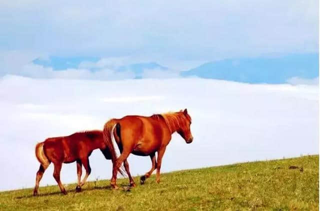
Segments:
[[[318,154],[318,86],[243,84],[211,79],[121,81],[0,78],[0,190],[33,187],[34,146],[47,137],[102,129],[110,118],[187,108],[193,143],[174,134],[161,172]],[[89,180],[109,179],[111,162],[99,150],[89,158]],[[132,175],[151,167],[130,155]],[[56,184],[53,165],[40,186]],[[62,183],[76,182],[65,164]],[[57,188],[58,191],[58,188]]]

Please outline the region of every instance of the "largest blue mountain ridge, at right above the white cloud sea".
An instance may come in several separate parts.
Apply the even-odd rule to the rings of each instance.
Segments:
[[[292,77],[318,77],[318,53],[224,59],[204,63],[180,75],[245,83],[286,83]]]

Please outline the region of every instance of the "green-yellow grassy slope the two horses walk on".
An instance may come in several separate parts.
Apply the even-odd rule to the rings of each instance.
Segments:
[[[75,184],[0,193],[0,210],[318,210],[318,155],[241,163],[154,175],[143,186],[110,189],[109,181],[90,182],[75,193]],[[297,166],[298,169],[289,169]],[[300,168],[303,167],[303,171]],[[52,178],[53,180],[53,178]]]

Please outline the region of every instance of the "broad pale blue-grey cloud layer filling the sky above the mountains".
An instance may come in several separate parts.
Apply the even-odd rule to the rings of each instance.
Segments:
[[[317,8],[317,0],[1,1],[1,47],[174,61],[314,52]]]

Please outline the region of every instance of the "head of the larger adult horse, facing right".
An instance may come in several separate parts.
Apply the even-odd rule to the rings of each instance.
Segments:
[[[193,136],[190,131],[191,117],[186,109],[183,111],[180,110],[178,113],[182,116],[179,118],[179,128],[176,132],[185,140],[187,144],[190,144],[193,141]]]

